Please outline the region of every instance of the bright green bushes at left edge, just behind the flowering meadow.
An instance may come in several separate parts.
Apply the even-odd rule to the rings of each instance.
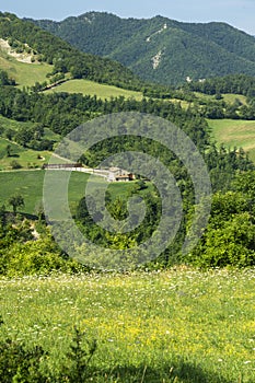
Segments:
[[[8,224],[5,213],[0,211],[0,275],[22,277],[25,275],[49,275],[51,272],[82,272],[88,268],[69,259],[49,234],[35,239],[28,221]],[[46,230],[47,231],[47,230]]]

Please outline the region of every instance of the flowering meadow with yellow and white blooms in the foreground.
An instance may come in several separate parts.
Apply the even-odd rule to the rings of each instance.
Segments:
[[[253,383],[254,286],[254,270],[186,268],[2,279],[0,337],[42,345],[58,370],[78,325],[98,341],[102,382],[141,382],[131,376],[146,367],[148,383]],[[129,375],[111,380],[121,369]]]

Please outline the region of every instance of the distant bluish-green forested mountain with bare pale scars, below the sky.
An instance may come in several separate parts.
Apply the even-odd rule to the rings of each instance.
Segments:
[[[77,48],[120,61],[147,81],[176,84],[230,73],[255,76],[255,38],[225,23],[89,12],[34,21]]]

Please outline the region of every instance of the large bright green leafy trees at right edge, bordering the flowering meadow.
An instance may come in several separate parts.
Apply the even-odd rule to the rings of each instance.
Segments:
[[[199,267],[255,265],[255,214],[239,192],[217,193],[205,234],[188,260]]]

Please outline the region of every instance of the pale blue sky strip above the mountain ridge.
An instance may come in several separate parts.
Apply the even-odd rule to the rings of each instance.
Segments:
[[[255,0],[0,0],[0,11],[56,21],[90,11],[137,19],[160,14],[184,22],[225,22],[255,35]]]

